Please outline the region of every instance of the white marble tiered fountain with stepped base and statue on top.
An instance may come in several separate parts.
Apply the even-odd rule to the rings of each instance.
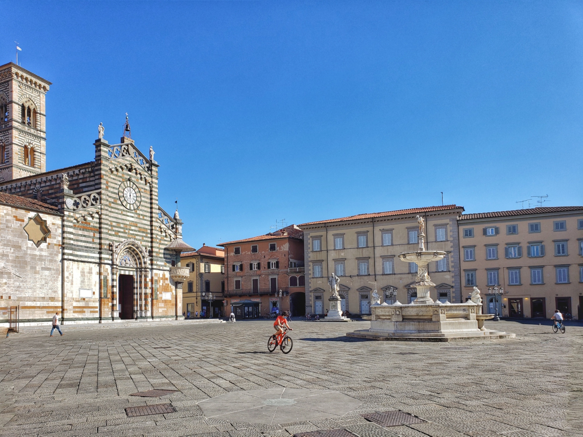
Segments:
[[[452,339],[472,338],[512,338],[515,334],[507,334],[484,327],[484,320],[493,317],[492,314],[482,314],[482,298],[480,290],[474,287],[472,297],[468,302],[460,304],[442,304],[434,302],[430,297],[431,287],[436,284],[429,277],[429,263],[438,261],[447,253],[428,251],[425,248],[425,220],[416,216],[419,224],[417,241],[419,249],[415,252],[405,252],[399,255],[404,262],[417,264],[417,276],[410,284],[417,290],[417,298],[409,305],[380,304],[376,290],[373,293],[371,305],[370,329],[347,333],[350,337],[360,337],[373,340],[416,340],[416,341],[449,341]],[[375,295],[376,294],[376,295]]]

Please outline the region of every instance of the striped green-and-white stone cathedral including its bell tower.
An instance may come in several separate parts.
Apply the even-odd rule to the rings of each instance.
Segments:
[[[89,163],[46,171],[45,95],[51,83],[0,66],[0,322],[182,318],[178,211],[158,205],[158,167],[124,136],[94,143]]]

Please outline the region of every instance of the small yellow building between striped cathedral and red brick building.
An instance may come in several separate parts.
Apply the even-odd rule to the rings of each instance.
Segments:
[[[190,318],[194,319],[198,311],[199,318],[208,318],[211,314],[213,318],[228,316],[223,302],[224,250],[203,244],[198,251],[181,253],[180,265],[190,271],[182,286],[182,308],[187,315],[190,312]]]

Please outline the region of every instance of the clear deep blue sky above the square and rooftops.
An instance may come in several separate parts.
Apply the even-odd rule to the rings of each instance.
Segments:
[[[47,170],[97,125],[160,164],[193,246],[440,205],[583,205],[581,2],[0,1],[53,83]]]

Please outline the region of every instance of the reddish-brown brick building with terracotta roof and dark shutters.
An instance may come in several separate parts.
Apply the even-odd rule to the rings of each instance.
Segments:
[[[229,241],[225,249],[227,311],[258,318],[279,308],[305,313],[304,233],[296,225],[258,237]],[[281,296],[280,296],[281,292]]]

